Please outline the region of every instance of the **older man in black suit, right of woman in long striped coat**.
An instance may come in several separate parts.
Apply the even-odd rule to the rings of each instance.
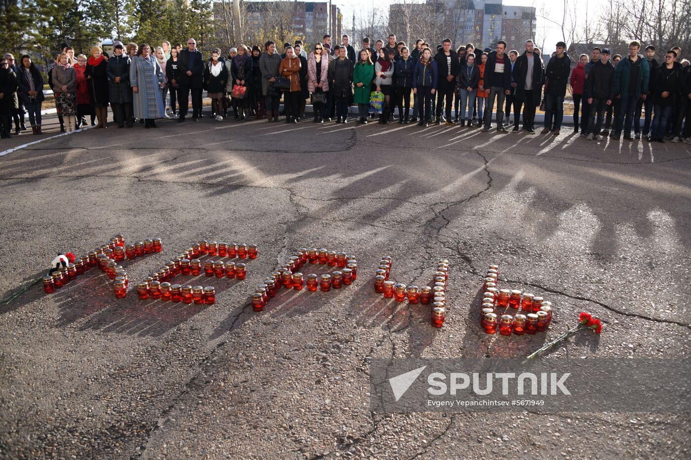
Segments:
[[[180,51],[178,56],[178,68],[180,69],[180,118],[178,122],[184,122],[187,115],[190,90],[192,93],[192,119],[196,122],[202,113],[202,90],[204,89],[204,57],[197,50],[195,39],[187,40],[187,50]]]

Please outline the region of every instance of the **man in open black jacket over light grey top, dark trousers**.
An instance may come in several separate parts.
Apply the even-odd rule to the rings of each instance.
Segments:
[[[540,82],[542,82],[542,59],[533,53],[535,44],[532,40],[525,42],[525,52],[516,59],[513,65],[515,82],[515,113],[520,113],[523,105],[523,129],[535,134],[535,108],[540,105]],[[518,133],[518,123],[513,125],[513,132]]]

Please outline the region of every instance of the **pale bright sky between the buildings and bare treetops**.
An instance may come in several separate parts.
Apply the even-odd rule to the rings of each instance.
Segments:
[[[341,8],[341,14],[343,14],[343,28],[345,28],[345,30],[350,30],[350,28],[352,28],[353,12],[355,12],[355,16],[357,17],[363,12],[372,10],[373,4],[376,4],[377,8],[381,8],[383,14],[388,15],[388,3],[382,4],[375,0],[332,0],[332,2]],[[424,0],[413,0],[410,3],[424,3]],[[552,52],[554,50],[554,45],[557,41],[562,39],[562,36],[560,28],[551,21],[561,23],[564,12],[562,2],[545,0],[504,0],[503,3],[507,6],[533,6],[536,8],[536,14],[538,16],[538,33],[542,32],[546,38],[545,50],[543,50],[543,52]],[[545,14],[547,19],[542,17],[541,10],[543,5],[549,6],[549,11]],[[547,9],[548,8],[545,8],[545,10]]]

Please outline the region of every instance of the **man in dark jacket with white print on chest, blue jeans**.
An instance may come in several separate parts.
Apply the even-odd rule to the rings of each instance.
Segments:
[[[507,42],[497,42],[497,50],[489,53],[484,64],[484,88],[489,88],[489,98],[484,109],[483,133],[489,132],[492,124],[492,108],[494,100],[497,100],[497,132],[507,133],[504,128],[504,97],[511,93],[511,60],[504,51],[507,50]]]

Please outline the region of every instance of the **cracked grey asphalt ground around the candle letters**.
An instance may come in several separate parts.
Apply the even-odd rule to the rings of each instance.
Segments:
[[[575,336],[549,359],[688,358],[691,147],[567,131],[205,118],[89,130],[0,157],[3,298],[59,251],[86,253],[115,233],[164,242],[124,262],[131,280],[202,238],[260,252],[245,281],[191,280],[214,285],[216,305],[140,301],[132,282],[117,300],[93,270],[1,305],[0,456],[688,458],[688,414],[369,410],[372,358],[522,358],[582,310],[603,334]],[[310,246],[357,255],[357,281],[280,291],[252,312],[254,287]],[[417,285],[450,260],[442,329],[427,307],[373,292],[384,255],[393,279]],[[491,263],[503,285],[553,302],[547,334],[482,332]]]

